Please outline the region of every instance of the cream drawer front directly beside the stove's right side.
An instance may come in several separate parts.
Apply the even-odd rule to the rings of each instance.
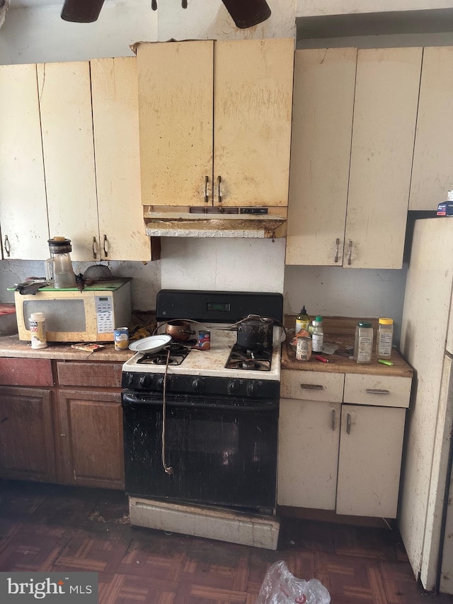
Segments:
[[[303,401],[343,401],[343,373],[282,370],[280,397]]]

